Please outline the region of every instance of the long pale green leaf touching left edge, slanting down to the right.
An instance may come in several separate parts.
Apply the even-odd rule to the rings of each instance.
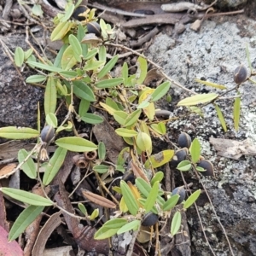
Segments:
[[[54,204],[53,201],[50,201],[49,199],[44,198],[43,196],[35,195],[20,189],[0,188],[0,191],[2,191],[5,195],[9,195],[15,200],[22,201],[32,206],[49,207]]]

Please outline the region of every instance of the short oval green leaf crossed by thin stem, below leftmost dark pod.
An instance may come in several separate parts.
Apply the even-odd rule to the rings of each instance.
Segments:
[[[18,152],[19,163],[25,160],[28,154],[29,153],[26,151],[26,149],[24,148],[20,149]],[[29,157],[28,160],[26,160],[26,162],[20,167],[20,169],[26,173],[27,177],[30,177],[33,179],[37,177],[37,168],[31,157]]]

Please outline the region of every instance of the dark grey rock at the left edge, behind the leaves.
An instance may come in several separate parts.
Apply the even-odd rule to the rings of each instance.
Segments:
[[[28,49],[25,35],[20,33],[0,36],[0,39],[12,52],[15,52],[17,46]],[[26,80],[32,73],[25,67],[21,74]],[[16,125],[36,128],[38,102],[42,103],[44,90],[23,83],[17,75],[14,64],[4,53],[3,47],[0,47],[0,77],[0,127]]]

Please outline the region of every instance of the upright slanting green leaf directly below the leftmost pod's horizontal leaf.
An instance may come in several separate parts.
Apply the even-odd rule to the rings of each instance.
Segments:
[[[65,157],[67,154],[67,149],[65,148],[57,148],[55,150],[55,154],[49,160],[43,177],[43,184],[48,185],[56,176],[57,172],[59,172]]]

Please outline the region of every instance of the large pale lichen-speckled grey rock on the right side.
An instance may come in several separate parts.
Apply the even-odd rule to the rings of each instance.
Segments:
[[[220,1],[221,2],[221,1]],[[244,24],[244,25],[242,25]],[[248,69],[246,46],[250,52],[253,68],[255,68],[255,20],[245,15],[221,17],[206,20],[201,31],[189,30],[189,25],[177,40],[178,44],[170,49],[172,38],[160,34],[154,44],[149,47],[147,57],[153,59],[165,72],[190,90],[197,93],[217,92],[211,87],[196,84],[195,79],[206,79],[216,84],[224,84],[229,89],[236,84],[233,72],[240,64]],[[254,79],[255,80],[255,79]],[[249,138],[256,143],[256,86],[246,82],[240,86],[241,91],[241,122],[238,132],[233,124],[233,99],[219,100],[226,119],[228,132],[224,133],[217,114],[212,105],[204,108],[204,119],[196,114],[190,114],[187,119],[172,121],[169,124],[169,137],[177,141],[177,135],[187,132],[192,140],[197,137],[201,142],[201,154],[206,160],[211,160],[216,179],[203,177],[212,204],[220,218],[235,255],[256,255],[256,160],[253,156],[243,156],[241,160],[230,160],[219,157],[208,143],[209,137],[232,138],[238,141]],[[160,108],[172,110],[173,116],[183,115],[185,108],[175,107],[177,102],[189,96],[183,90],[172,87],[171,104],[164,101]],[[235,92],[232,94],[235,95]],[[193,189],[201,188],[195,177],[186,176],[187,182],[193,182]],[[182,181],[176,185],[183,185]],[[214,253],[218,256],[231,255],[225,239],[205,194],[197,202],[206,229],[208,240]],[[191,232],[192,255],[212,255],[210,248],[201,232],[195,207],[187,212],[189,231]]]

